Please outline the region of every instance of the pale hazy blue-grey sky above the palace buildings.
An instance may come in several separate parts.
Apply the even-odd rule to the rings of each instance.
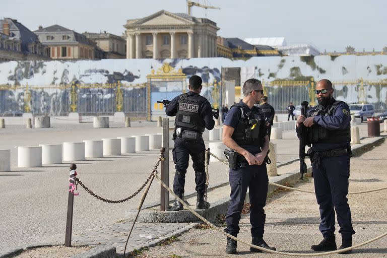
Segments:
[[[197,0],[217,9],[192,7],[191,15],[217,23],[221,37],[285,37],[320,52],[380,51],[387,46],[386,0]],[[54,24],[76,32],[124,32],[128,19],[160,10],[186,13],[186,0],[0,0],[0,18],[17,19],[34,31]]]

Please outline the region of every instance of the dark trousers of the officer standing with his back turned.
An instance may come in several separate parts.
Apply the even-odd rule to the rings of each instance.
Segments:
[[[206,191],[205,151],[203,138],[198,141],[184,141],[176,137],[175,148],[172,150],[175,163],[175,177],[173,179],[173,192],[176,195],[184,193],[185,173],[188,168],[189,155],[192,159],[192,167],[195,170],[196,191],[203,194]]]

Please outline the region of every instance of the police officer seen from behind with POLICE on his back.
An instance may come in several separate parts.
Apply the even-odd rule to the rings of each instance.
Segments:
[[[175,163],[175,177],[173,179],[173,192],[183,199],[185,173],[188,168],[189,155],[195,170],[197,195],[197,209],[206,209],[210,204],[205,202],[206,191],[205,150],[202,133],[205,128],[214,128],[215,121],[212,116],[210,102],[199,95],[202,90],[202,78],[197,75],[189,78],[189,92],[181,94],[171,100],[165,113],[175,118],[175,147],[172,150]],[[175,200],[172,211],[180,211],[183,205]]]

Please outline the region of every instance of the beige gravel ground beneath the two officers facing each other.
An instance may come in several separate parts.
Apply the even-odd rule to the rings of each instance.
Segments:
[[[387,171],[387,143],[375,147],[360,157],[351,159],[349,191],[362,191],[385,187]],[[302,189],[313,189],[313,179],[297,183]],[[353,226],[356,234],[353,243],[359,244],[387,232],[386,190],[349,195]],[[266,207],[265,240],[277,250],[298,253],[312,253],[310,245],[322,237],[318,231],[319,213],[315,197],[310,193],[282,191],[269,197]],[[336,224],[336,242],[341,237]],[[221,225],[223,229],[225,226]],[[250,241],[248,215],[242,217],[239,237]],[[226,254],[226,237],[214,229],[192,229],[168,245],[150,248],[138,256],[142,257],[236,257]],[[238,257],[284,257],[278,254],[256,254],[249,247],[239,243]],[[329,257],[387,257],[387,237],[355,249],[351,254],[332,254]],[[299,256],[298,256],[299,257]]]

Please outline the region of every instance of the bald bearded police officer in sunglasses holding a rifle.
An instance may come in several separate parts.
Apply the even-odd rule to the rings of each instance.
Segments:
[[[315,90],[318,105],[308,110],[306,119],[302,115],[297,118],[298,137],[298,126],[303,123],[308,128],[308,141],[312,145],[314,189],[321,217],[319,229],[324,237],[319,244],[311,246],[315,251],[337,249],[335,210],[342,235],[339,249],[352,246],[352,235],[355,234],[346,197],[351,156],[351,116],[348,105],[335,100],[333,92],[329,80],[320,80]]]

